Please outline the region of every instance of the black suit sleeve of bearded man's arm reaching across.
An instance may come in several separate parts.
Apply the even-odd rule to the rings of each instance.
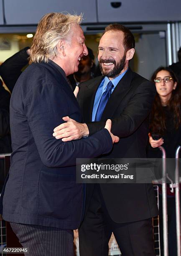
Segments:
[[[120,137],[127,137],[134,133],[148,117],[156,94],[155,85],[149,81],[143,82],[135,90],[120,116],[112,118],[111,132]],[[105,121],[87,123],[89,134],[92,135],[102,129]]]

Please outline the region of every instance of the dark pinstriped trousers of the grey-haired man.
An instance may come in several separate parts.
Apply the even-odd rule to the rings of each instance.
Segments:
[[[38,225],[10,223],[23,248],[25,256],[73,256],[73,230],[62,230]]]

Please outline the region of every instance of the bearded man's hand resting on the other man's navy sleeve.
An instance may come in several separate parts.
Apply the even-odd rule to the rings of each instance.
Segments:
[[[89,129],[86,123],[78,123],[68,116],[62,119],[66,121],[66,123],[62,123],[54,128],[53,136],[56,139],[61,138],[62,141],[72,141],[89,135]]]

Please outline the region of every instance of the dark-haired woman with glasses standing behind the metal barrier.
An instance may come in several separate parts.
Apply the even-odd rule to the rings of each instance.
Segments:
[[[148,158],[161,158],[159,146],[166,150],[167,158],[174,158],[178,145],[181,145],[181,88],[170,68],[159,67],[151,80],[156,85],[156,97],[150,115],[150,133],[147,148]],[[174,168],[174,167],[173,167]],[[160,188],[159,188],[160,189]],[[161,192],[161,189],[160,189]],[[160,237],[163,250],[162,199],[160,195]],[[176,215],[175,195],[167,186],[168,203],[168,246],[169,255],[176,256]],[[163,251],[161,253],[163,255]]]

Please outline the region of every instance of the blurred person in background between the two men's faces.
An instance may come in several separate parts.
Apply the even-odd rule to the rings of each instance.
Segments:
[[[79,62],[79,69],[76,73],[69,75],[67,78],[68,82],[71,84],[72,89],[74,90],[76,85],[80,82],[88,81],[89,79],[94,78],[94,54],[92,49],[87,47],[88,55],[83,56]]]

